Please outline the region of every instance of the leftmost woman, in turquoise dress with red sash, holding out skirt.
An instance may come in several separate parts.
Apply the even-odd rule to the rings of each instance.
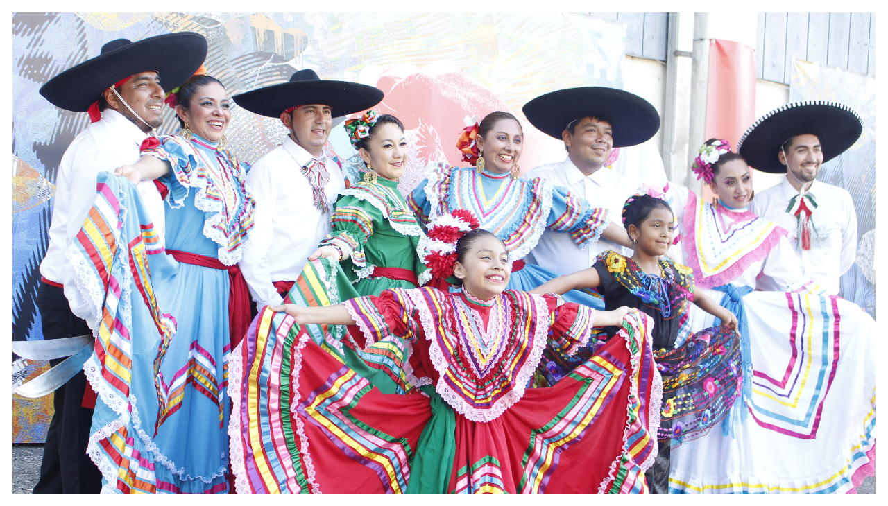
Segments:
[[[183,128],[115,171],[166,190],[165,254],[134,186],[110,174],[72,247],[101,315],[84,370],[99,393],[88,453],[104,492],[229,490],[228,356],[250,323],[236,264],[255,202],[225,149],[222,83],[195,75],[175,97]]]

